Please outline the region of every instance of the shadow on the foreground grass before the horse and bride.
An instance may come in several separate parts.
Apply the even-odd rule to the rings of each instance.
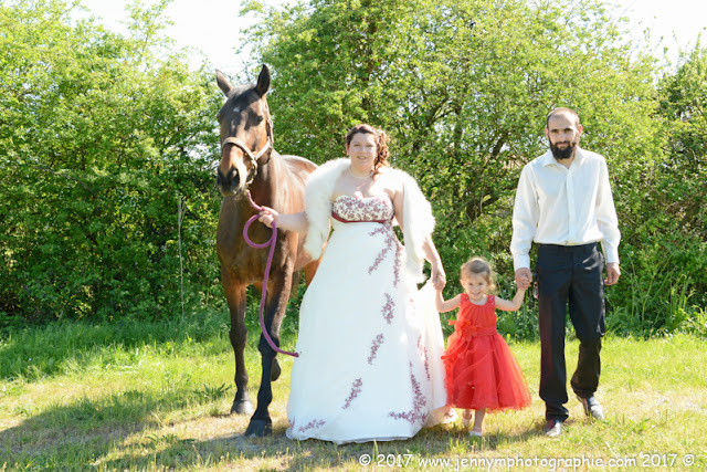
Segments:
[[[128,390],[102,399],[78,399],[49,408],[22,423],[0,432],[0,464],[10,469],[152,470],[200,468],[213,464],[235,468],[309,470],[357,466],[363,454],[371,465],[386,461],[419,461],[474,454],[499,445],[525,442],[540,434],[532,426],[517,434],[489,434],[472,439],[461,427],[423,429],[413,439],[337,445],[326,441],[293,441],[284,427],[268,438],[243,437],[246,417],[212,415],[165,423],[167,413],[199,402],[189,390],[146,395]],[[205,402],[205,401],[204,401]],[[205,421],[213,431],[205,440],[184,439],[189,421]],[[189,436],[198,436],[189,433]],[[454,444],[457,444],[456,448]],[[458,457],[458,454],[457,454]]]

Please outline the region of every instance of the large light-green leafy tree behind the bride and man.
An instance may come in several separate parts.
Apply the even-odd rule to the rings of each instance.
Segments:
[[[446,260],[486,252],[508,269],[518,174],[547,148],[552,107],[578,109],[619,200],[641,188],[635,166],[659,158],[655,60],[620,42],[624,23],[601,1],[312,0],[247,12],[262,19],[246,46],[272,66],[281,147],[323,161],[357,122],[388,129],[394,164],[435,203]]]

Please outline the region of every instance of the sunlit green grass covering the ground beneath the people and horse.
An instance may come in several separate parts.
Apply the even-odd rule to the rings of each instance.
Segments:
[[[252,398],[260,380],[256,323],[250,324],[247,347]],[[285,324],[288,349],[293,325]],[[493,470],[593,470],[602,460],[623,461],[608,470],[684,469],[688,454],[695,457],[692,470],[707,468],[704,338],[608,338],[598,392],[606,420],[588,421],[570,399],[570,420],[558,439],[541,434],[539,345],[515,343],[534,403],[487,416],[483,439],[467,437],[457,421],[408,441],[335,445],[285,438],[292,358],[282,357],[271,406],[274,434],[243,438],[249,418],[228,415],[234,395],[228,329],[225,315],[205,314],[184,322],[57,323],[6,333],[0,471],[360,470],[362,454],[379,470],[487,469],[493,460],[502,461]],[[568,342],[570,374],[577,349],[577,342]],[[559,462],[566,460],[583,462]]]

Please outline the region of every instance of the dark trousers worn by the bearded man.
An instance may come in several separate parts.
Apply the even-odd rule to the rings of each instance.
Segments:
[[[579,397],[594,395],[601,373],[604,336],[604,258],[597,243],[541,244],[536,264],[540,327],[540,398],[546,418],[566,420],[567,374],[564,326],[569,314],[579,345],[579,360],[571,386]]]

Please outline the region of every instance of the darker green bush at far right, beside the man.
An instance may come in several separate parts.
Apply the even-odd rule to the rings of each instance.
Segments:
[[[659,159],[620,187],[624,275],[611,290],[619,333],[704,334],[707,307],[707,50],[658,84]]]

